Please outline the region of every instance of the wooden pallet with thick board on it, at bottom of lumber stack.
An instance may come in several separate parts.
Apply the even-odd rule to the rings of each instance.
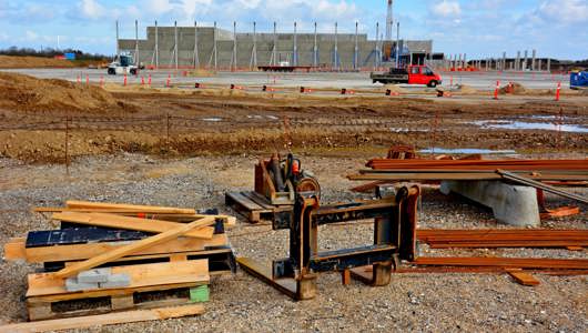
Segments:
[[[112,272],[128,274],[131,285],[69,292],[64,280],[57,279],[55,273],[30,274],[29,320],[186,304],[190,289],[210,282],[206,260],[115,266]]]

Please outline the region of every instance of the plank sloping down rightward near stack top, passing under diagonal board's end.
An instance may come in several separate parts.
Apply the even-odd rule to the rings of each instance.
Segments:
[[[74,223],[80,223],[80,224],[87,224],[87,225],[136,230],[136,231],[153,232],[153,233],[166,232],[166,231],[180,228],[182,225],[185,225],[184,223],[178,223],[178,222],[146,220],[146,219],[120,216],[115,214],[105,214],[105,213],[63,212],[63,213],[54,213],[52,215],[52,219],[60,220],[60,221],[67,221],[67,222],[74,222]],[[190,236],[190,238],[210,240],[212,239],[213,234],[214,234],[214,228],[205,226],[205,228],[200,228],[197,230],[186,232],[184,235]]]

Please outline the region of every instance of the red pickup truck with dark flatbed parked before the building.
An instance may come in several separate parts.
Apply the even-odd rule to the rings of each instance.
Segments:
[[[381,83],[408,83],[426,84],[435,88],[443,83],[442,77],[435,73],[427,65],[409,65],[407,68],[391,68],[385,73],[371,73],[372,82]]]

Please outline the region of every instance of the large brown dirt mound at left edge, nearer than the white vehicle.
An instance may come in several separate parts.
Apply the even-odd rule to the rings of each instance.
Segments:
[[[23,111],[133,111],[102,88],[0,72],[0,108]]]

